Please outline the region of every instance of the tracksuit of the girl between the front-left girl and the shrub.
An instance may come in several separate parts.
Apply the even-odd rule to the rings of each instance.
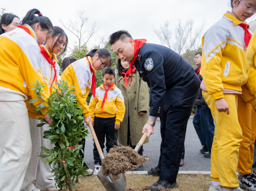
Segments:
[[[44,45],[41,45],[45,51],[47,51],[47,54],[50,58],[53,59],[53,62],[55,63],[55,69],[57,73],[57,80],[59,81],[61,79],[59,72],[60,67],[58,65],[58,60],[55,56],[55,54],[51,55],[46,47]],[[44,81],[44,86],[46,87],[46,93],[49,97],[51,95],[50,86],[53,83],[54,80],[54,68],[51,64],[48,63],[46,58],[40,54],[40,62],[41,62],[41,73]],[[53,83],[53,86],[56,87],[56,83]],[[55,91],[52,88],[52,92]],[[30,125],[30,134],[32,139],[32,154],[31,158],[27,167],[27,172],[24,178],[24,181],[22,183],[20,191],[27,191],[27,190],[33,190],[35,188],[33,182],[35,179],[36,181],[36,187],[40,188],[41,190],[47,190],[47,188],[53,186],[55,184],[54,180],[48,180],[48,179],[54,179],[54,173],[52,173],[51,168],[48,164],[45,164],[45,159],[42,157],[38,157],[38,155],[45,155],[46,153],[40,148],[41,146],[45,146],[48,149],[54,148],[54,144],[51,144],[51,141],[49,139],[43,138],[43,132],[49,130],[49,125],[46,124],[43,127],[37,127],[39,123],[41,123],[40,120],[38,120],[39,117],[41,117],[40,114],[35,113],[33,110],[35,109],[33,104],[29,103],[29,100],[32,99],[31,96],[28,97],[28,99],[25,101],[27,105],[28,110],[28,117],[29,117],[29,125]]]

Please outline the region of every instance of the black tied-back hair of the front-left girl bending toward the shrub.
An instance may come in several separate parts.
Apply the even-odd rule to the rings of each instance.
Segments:
[[[40,23],[41,29],[43,31],[48,30],[48,34],[53,32],[53,24],[49,18],[41,15],[35,16],[34,14],[40,14],[41,12],[38,9],[31,9],[27,12],[26,16],[20,21],[20,25],[29,25],[34,28],[36,23]]]

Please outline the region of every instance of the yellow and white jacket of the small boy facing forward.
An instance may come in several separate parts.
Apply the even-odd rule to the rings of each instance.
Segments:
[[[108,87],[106,88],[108,89]],[[105,89],[103,88],[103,84],[101,84],[101,86],[96,89],[95,99],[93,96],[91,97],[89,108],[92,120],[94,121],[95,116],[101,118],[116,117],[115,124],[120,125],[125,113],[124,98],[121,90],[114,84],[114,86],[108,90],[108,96],[102,109],[101,104],[104,94]]]

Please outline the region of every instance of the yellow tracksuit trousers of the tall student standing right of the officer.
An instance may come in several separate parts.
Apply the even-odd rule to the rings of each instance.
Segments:
[[[237,107],[237,94],[224,94],[224,99],[229,105],[229,115],[219,113],[213,96],[202,91],[205,102],[211,109],[215,121],[215,134],[211,150],[211,178],[219,181],[226,188],[236,188],[239,181],[236,176],[240,142],[243,132],[239,125]]]

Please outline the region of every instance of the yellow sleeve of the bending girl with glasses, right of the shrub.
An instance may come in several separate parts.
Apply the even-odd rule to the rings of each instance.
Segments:
[[[83,69],[81,68],[81,70]],[[70,64],[66,68],[66,70],[64,70],[64,72],[61,75],[61,80],[67,81],[67,85],[69,87],[74,86],[74,90],[75,90],[74,95],[76,96],[76,99],[78,101],[77,103],[81,107],[81,110],[83,110],[84,117],[88,117],[90,115],[90,109],[88,107],[86,99],[90,89],[86,88],[84,92],[81,91],[81,88],[78,83],[78,79],[74,72],[74,68],[72,64]],[[84,79],[84,84],[86,84],[86,86],[88,84],[88,80],[86,78]]]

